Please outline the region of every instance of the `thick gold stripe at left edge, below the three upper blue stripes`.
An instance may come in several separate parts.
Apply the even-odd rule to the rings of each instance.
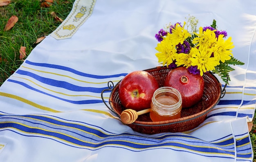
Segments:
[[[34,103],[32,101],[29,101],[27,99],[24,99],[20,96],[16,96],[16,95],[13,95],[13,94],[9,94],[9,93],[4,93],[4,92],[0,92],[0,96],[5,96],[5,97],[9,97],[11,99],[16,99],[18,101],[21,101],[23,103],[27,103],[28,105],[31,105],[31,106],[34,106],[38,109],[42,109],[42,110],[45,110],[45,111],[48,111],[48,112],[60,112],[60,111],[57,111],[57,110],[54,110],[54,109],[51,109],[49,107],[45,107],[45,106],[42,106],[42,105],[38,105],[37,103]]]

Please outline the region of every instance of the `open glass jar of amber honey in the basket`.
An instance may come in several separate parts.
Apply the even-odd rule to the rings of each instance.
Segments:
[[[152,121],[164,121],[180,118],[182,97],[175,88],[158,88],[152,97],[150,118]]]

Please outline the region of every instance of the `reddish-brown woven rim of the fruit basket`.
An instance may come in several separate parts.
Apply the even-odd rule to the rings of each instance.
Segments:
[[[146,69],[144,71],[147,71],[147,70],[155,70],[155,69],[162,69],[162,68],[166,68],[164,66],[157,66],[155,68],[150,68],[150,69]],[[214,101],[209,107],[207,107],[207,109],[204,109],[203,111],[201,112],[198,112],[196,114],[193,114],[193,115],[190,115],[190,116],[184,116],[182,118],[178,118],[178,119],[173,119],[173,120],[165,120],[165,121],[159,121],[159,122],[145,122],[145,121],[138,121],[136,120],[134,123],[132,123],[133,125],[139,125],[139,126],[166,126],[166,125],[173,125],[173,124],[177,124],[177,123],[182,123],[182,122],[185,122],[185,121],[189,121],[189,120],[193,120],[195,118],[198,118],[200,116],[203,116],[207,113],[209,113],[220,101],[220,98],[221,98],[221,92],[222,92],[222,85],[221,83],[219,82],[219,80],[216,78],[215,75],[213,75],[213,73],[211,72],[208,72],[208,73],[204,73],[204,75],[211,75],[211,77],[218,83],[219,85],[219,91],[218,91],[218,99],[216,101]],[[112,96],[112,93],[115,92],[115,90],[118,88],[119,86],[119,83],[121,82],[121,80],[119,82],[116,83],[116,85],[113,87],[111,93],[110,93],[110,97]],[[110,107],[111,109],[115,111],[115,109],[113,108],[112,106],[112,103],[110,101]],[[121,114],[119,114],[118,112],[116,112],[118,114],[118,117],[120,118]]]

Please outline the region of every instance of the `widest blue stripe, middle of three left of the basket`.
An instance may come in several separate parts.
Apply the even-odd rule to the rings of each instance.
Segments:
[[[21,75],[27,75],[29,77],[32,77],[32,78],[34,78],[34,79],[36,79],[36,80],[38,80],[42,83],[48,84],[48,85],[52,85],[52,86],[60,87],[60,88],[65,88],[67,90],[76,91],[76,92],[101,93],[102,90],[107,89],[107,87],[103,87],[103,88],[81,87],[81,86],[78,86],[78,85],[68,83],[66,81],[58,81],[58,80],[54,80],[54,79],[41,77],[37,74],[34,74],[32,72],[28,72],[28,71],[24,71],[24,70],[17,70],[16,73],[21,74]]]

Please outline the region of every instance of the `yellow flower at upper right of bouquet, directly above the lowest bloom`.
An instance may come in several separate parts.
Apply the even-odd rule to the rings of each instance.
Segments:
[[[199,28],[199,34],[194,33],[198,37],[195,37],[192,41],[193,44],[197,44],[196,47],[199,46],[200,48],[211,48],[214,46],[214,44],[217,41],[216,35],[213,30],[211,31],[210,29],[206,29],[206,31],[203,31],[203,28]]]

